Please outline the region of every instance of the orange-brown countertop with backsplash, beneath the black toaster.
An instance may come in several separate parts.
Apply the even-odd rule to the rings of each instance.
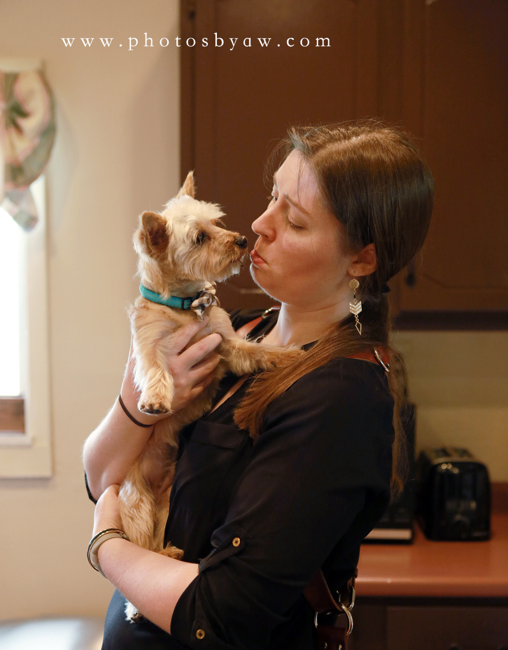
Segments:
[[[357,595],[508,598],[508,484],[492,484],[491,525],[489,541],[430,541],[415,523],[411,545],[363,544]]]

